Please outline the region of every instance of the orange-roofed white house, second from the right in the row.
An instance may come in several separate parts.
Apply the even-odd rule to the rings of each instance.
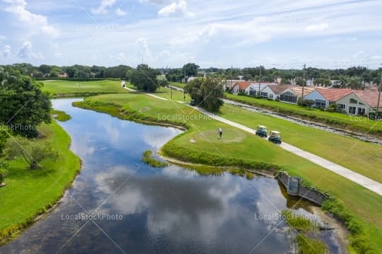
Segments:
[[[317,108],[329,108],[330,104],[335,103],[337,100],[347,96],[349,93],[352,93],[351,89],[316,88],[311,91],[311,93],[303,96],[303,98],[305,100],[314,100]]]

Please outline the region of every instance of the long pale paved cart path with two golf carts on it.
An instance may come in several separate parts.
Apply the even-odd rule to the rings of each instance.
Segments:
[[[129,91],[135,91],[131,88],[127,88]],[[151,93],[146,93],[148,96],[159,98],[161,100],[168,100],[166,98],[162,98],[159,96],[155,96]],[[183,102],[179,102],[183,103]],[[233,127],[236,127],[238,129],[243,129],[245,132],[249,132],[250,134],[256,134],[255,129],[251,129],[249,127],[246,127],[245,125],[238,124],[237,122],[233,122],[231,120],[228,120],[224,117],[219,117],[218,115],[213,114],[212,112],[207,112],[206,110],[203,110],[202,108],[192,107],[195,110],[202,112],[204,115],[207,115],[209,117],[212,117],[214,120],[218,120],[219,122],[224,122],[227,125],[231,125]],[[275,144],[276,145],[276,144]],[[378,183],[375,180],[372,180],[370,178],[367,178],[364,175],[361,175],[359,173],[356,173],[354,171],[349,170],[349,168],[345,168],[343,166],[338,165],[337,163],[333,163],[332,161],[328,161],[325,158],[322,158],[320,156],[316,156],[315,154],[311,154],[308,151],[304,151],[302,149],[299,149],[296,146],[292,146],[291,144],[287,144],[282,142],[282,144],[279,144],[282,149],[285,149],[292,154],[296,154],[297,156],[300,156],[302,158],[305,158],[308,161],[311,161],[313,163],[316,163],[318,166],[321,166],[323,168],[328,169],[329,171],[332,171],[336,173],[337,175],[341,175],[344,178],[347,178],[348,180],[351,180],[354,183],[357,183],[363,187],[365,187],[368,190],[371,190],[372,192],[377,193],[378,195],[382,195],[382,183]]]

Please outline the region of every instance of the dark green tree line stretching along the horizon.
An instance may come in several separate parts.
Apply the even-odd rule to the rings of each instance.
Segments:
[[[32,64],[12,64],[2,66],[4,69],[17,69],[23,75],[34,78],[58,78],[67,74],[69,79],[126,79],[131,78],[132,71],[136,68],[127,65],[116,67],[91,67],[84,65],[73,65],[70,67],[57,67],[55,65],[42,64],[35,67]],[[187,63],[181,68],[154,69],[157,74],[163,74],[168,81],[182,82],[191,76],[208,76],[215,79],[243,79],[245,81],[272,82],[281,79],[281,83],[290,83],[294,80],[297,84],[303,83],[303,77],[312,79],[317,86],[330,86],[332,80],[338,81],[338,87],[363,88],[365,83],[379,84],[382,69],[368,69],[366,67],[350,67],[347,69],[266,69],[265,67],[228,68],[219,69],[210,67],[201,69],[195,63]],[[261,75],[260,75],[261,74]]]

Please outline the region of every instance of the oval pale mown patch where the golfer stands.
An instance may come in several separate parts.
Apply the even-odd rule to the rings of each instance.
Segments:
[[[241,131],[240,129],[223,129],[223,137],[221,137],[221,139],[219,139],[219,133],[217,132],[217,129],[211,129],[205,132],[197,132],[192,135],[192,139],[194,139],[196,142],[206,142],[209,140],[209,142],[212,143],[238,143],[242,142],[246,137],[247,134],[245,134],[245,132]]]

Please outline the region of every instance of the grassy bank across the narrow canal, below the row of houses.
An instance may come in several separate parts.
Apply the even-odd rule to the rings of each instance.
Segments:
[[[371,121],[366,117],[352,117],[337,112],[326,112],[314,108],[308,109],[300,107],[299,105],[280,103],[274,100],[254,98],[250,96],[235,96],[231,93],[226,93],[226,98],[229,100],[237,101],[239,103],[245,103],[255,107],[279,112],[284,115],[291,115],[301,119],[321,122],[325,125],[340,127],[349,131],[361,132],[372,134],[376,137],[382,137],[382,122]]]

